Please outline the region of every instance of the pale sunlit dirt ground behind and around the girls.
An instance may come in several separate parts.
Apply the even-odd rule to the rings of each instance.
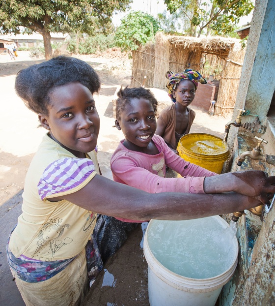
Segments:
[[[28,165],[45,134],[43,128],[37,128],[37,116],[26,108],[14,91],[17,72],[44,59],[31,59],[27,51],[19,51],[18,54],[16,61],[12,61],[7,54],[0,54],[0,299],[5,306],[24,305],[15,284],[10,284],[12,276],[6,263],[5,245],[8,234],[21,212]],[[122,132],[113,127],[112,99],[117,88],[130,85],[132,62],[128,55],[122,55],[116,49],[109,50],[103,56],[77,57],[91,64],[102,81],[101,91],[95,95],[101,118],[98,159],[103,175],[111,179],[110,156],[123,138]],[[163,90],[162,94],[166,96],[167,93]],[[196,117],[191,132],[223,136],[224,125],[231,118],[210,117],[197,107],[192,109],[195,110]]]

